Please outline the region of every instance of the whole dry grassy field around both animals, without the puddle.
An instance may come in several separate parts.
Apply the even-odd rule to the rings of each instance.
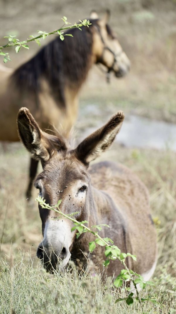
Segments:
[[[81,3],[1,1],[1,43],[5,43],[2,37],[8,33],[24,39],[36,30],[58,28],[63,15],[75,22],[88,17],[91,8],[102,13],[107,5],[103,1],[97,1],[96,6],[93,1],[84,1],[84,6]],[[103,123],[117,110],[126,115],[176,122],[175,2],[118,0],[110,1],[109,6],[113,12],[110,25],[131,60],[132,69],[121,80],[112,77],[110,85],[96,66],[91,70],[80,95],[77,141],[81,137],[79,130],[96,129],[97,117]],[[20,51],[18,55],[9,50],[12,62],[7,66],[18,66],[37,49],[37,45],[31,44],[29,51]],[[86,111],[88,107],[90,110]],[[176,313],[175,153],[167,147],[157,151],[114,143],[101,157],[107,159],[127,165],[150,192],[158,233],[158,264],[153,276],[155,285],[148,287],[145,296],[152,295],[158,303],[145,302],[143,311]],[[27,204],[24,197],[28,163],[22,144],[0,146],[0,313],[141,313],[137,302],[132,306],[125,302],[115,304],[117,298],[125,296],[125,290],[114,292],[111,279],[102,283],[88,274],[79,279],[76,271],[51,276],[42,270],[35,256],[41,240],[38,205],[34,201],[37,191],[33,190],[33,203]]]

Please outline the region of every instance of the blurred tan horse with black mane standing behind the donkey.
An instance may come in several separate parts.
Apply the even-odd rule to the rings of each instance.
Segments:
[[[44,46],[32,59],[14,71],[0,68],[0,141],[18,141],[16,116],[22,106],[30,109],[42,129],[58,129],[70,133],[78,111],[78,93],[95,63],[102,63],[108,73],[122,77],[129,71],[130,61],[108,23],[92,12],[91,25],[70,29]],[[31,197],[38,161],[31,159],[27,199]]]

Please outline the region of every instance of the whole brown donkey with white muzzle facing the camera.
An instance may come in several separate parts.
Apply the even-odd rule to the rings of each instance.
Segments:
[[[109,229],[100,231],[100,236],[111,238],[122,252],[135,254],[137,262],[127,259],[127,266],[148,280],[156,266],[157,246],[147,188],[124,165],[103,161],[89,168],[90,162],[111,145],[123,120],[123,112],[118,111],[75,149],[61,135],[44,133],[27,108],[20,109],[17,124],[24,146],[43,166],[34,182],[39,195],[53,206],[61,199],[61,212],[75,214],[78,221],[88,221],[89,227],[109,225]],[[77,239],[69,219],[40,205],[39,214],[44,238],[37,257],[47,271],[57,269],[58,257],[60,268],[66,267],[70,257],[76,257],[79,267],[85,269],[88,244],[95,240],[94,236],[87,232]],[[95,272],[103,272],[104,258],[102,246],[90,253]],[[118,260],[111,261],[106,275],[118,275],[122,268]]]

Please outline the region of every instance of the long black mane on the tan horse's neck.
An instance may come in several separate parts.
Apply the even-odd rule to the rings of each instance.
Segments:
[[[47,80],[51,93],[65,106],[65,84],[76,84],[79,88],[86,78],[90,67],[93,29],[92,25],[83,26],[81,31],[70,29],[61,41],[59,36],[44,46],[33,58],[17,68],[11,76],[17,89],[34,92],[36,97],[41,90],[41,78]]]

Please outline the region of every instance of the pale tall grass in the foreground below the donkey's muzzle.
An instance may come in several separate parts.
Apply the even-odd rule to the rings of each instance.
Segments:
[[[1,313],[142,313],[137,301],[132,306],[124,301],[115,304],[127,291],[114,290],[111,278],[102,282],[98,275],[80,277],[75,269],[50,275],[34,260],[26,263],[23,254],[19,251],[14,259],[12,254],[9,263],[1,261]],[[158,303],[144,303],[144,312],[171,313],[169,293],[153,288],[148,295]]]

